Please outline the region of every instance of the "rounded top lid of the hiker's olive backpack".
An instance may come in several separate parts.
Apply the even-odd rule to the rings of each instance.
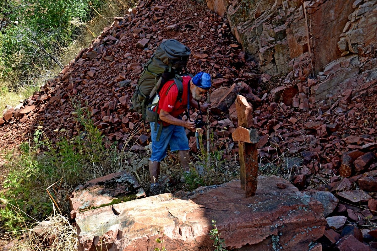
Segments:
[[[190,54],[190,49],[175,39],[169,39],[162,42],[155,52],[155,56],[166,65],[169,65],[171,60],[185,61]]]

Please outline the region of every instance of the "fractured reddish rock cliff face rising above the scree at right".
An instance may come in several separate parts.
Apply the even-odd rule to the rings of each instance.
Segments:
[[[376,0],[211,0],[207,6],[227,17],[261,71],[298,85],[297,107],[327,109],[346,89],[351,94],[343,96],[355,99],[374,91]]]

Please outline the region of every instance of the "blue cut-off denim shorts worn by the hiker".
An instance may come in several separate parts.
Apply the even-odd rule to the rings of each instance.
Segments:
[[[158,128],[162,126],[157,125],[155,130],[155,122],[150,122],[150,135],[152,136],[152,154],[150,161],[160,162],[166,157],[167,146],[170,146],[170,151],[187,151],[189,150],[189,140],[183,126],[168,125],[162,126],[159,141],[156,141]]]

